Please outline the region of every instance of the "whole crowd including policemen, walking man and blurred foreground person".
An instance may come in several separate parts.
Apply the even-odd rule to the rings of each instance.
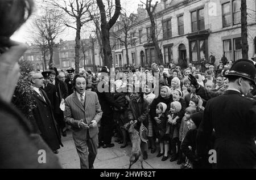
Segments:
[[[51,65],[25,79],[31,88],[22,93],[35,104],[25,118],[11,98],[27,48],[10,36],[31,15],[33,1],[14,2],[0,6],[2,20],[9,17],[0,37],[0,168],[61,168],[53,153],[71,128],[81,168],[92,169],[97,149],[112,148],[113,136],[120,148],[127,146],[127,124],[138,131],[144,160],[151,149],[159,162],[170,157],[183,169],[256,168],[256,68],[249,59],[232,65],[223,57],[215,67],[211,54],[203,68],[171,66],[168,72],[155,63],[102,67],[95,74]]]

